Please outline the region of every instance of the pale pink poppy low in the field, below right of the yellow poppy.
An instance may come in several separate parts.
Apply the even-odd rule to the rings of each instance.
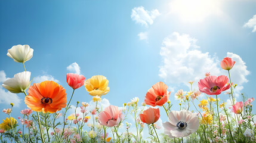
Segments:
[[[109,105],[98,114],[98,123],[103,126],[113,127],[117,126],[122,120],[122,110],[117,106]]]

